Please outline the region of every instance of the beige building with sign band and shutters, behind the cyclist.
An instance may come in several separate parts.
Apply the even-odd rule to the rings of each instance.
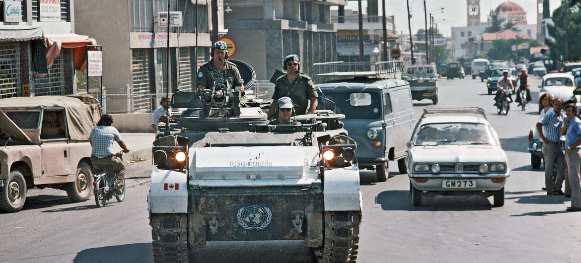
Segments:
[[[211,0],[170,0],[170,11],[182,12],[183,24],[170,28],[169,49],[167,26],[158,17],[167,12],[167,1],[75,1],[75,15],[83,17],[77,32],[101,39],[107,111],[151,111],[166,87],[170,93],[196,87],[196,71],[210,59]]]

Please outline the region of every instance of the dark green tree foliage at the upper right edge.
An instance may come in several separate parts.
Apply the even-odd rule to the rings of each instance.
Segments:
[[[568,13],[568,23],[565,23],[565,4],[562,4],[553,12],[553,25],[548,24],[548,33],[555,39],[551,42],[547,39],[547,45],[557,59],[560,55],[564,60],[575,61],[581,59],[581,11],[579,10],[579,2],[571,3]],[[568,46],[568,56],[565,57],[565,42]]]

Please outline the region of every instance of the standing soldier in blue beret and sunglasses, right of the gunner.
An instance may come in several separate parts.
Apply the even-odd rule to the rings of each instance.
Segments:
[[[289,97],[295,102],[295,113],[297,115],[313,114],[317,109],[317,91],[315,85],[309,76],[300,73],[299,56],[288,55],[285,57],[282,67],[286,70],[286,74],[277,79],[277,84],[274,86],[274,94],[272,95],[272,105],[268,111],[268,118],[274,116],[275,103],[281,97]],[[311,106],[309,107],[309,100]],[[309,107],[309,111],[307,111]]]

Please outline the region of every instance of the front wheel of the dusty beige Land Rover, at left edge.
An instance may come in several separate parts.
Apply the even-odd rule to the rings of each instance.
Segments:
[[[26,181],[22,172],[14,170],[10,172],[2,188],[0,211],[18,212],[24,206],[24,201],[26,201]]]

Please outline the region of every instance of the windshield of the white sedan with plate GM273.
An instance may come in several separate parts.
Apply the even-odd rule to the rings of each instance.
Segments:
[[[422,125],[414,145],[497,145],[492,129],[477,123],[435,123]]]

